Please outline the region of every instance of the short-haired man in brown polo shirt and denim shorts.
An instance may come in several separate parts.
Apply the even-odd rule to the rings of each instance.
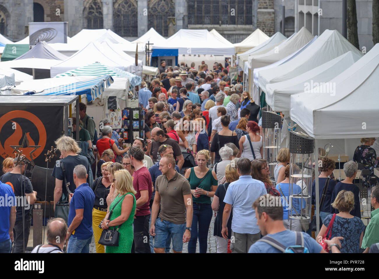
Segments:
[[[174,253],[181,253],[183,243],[191,238],[191,187],[184,176],[175,171],[175,159],[164,155],[159,162],[161,176],[155,181],[155,197],[151,213],[150,235],[154,237],[154,252],[164,253],[168,236],[172,236]],[[161,211],[158,210],[159,205]]]

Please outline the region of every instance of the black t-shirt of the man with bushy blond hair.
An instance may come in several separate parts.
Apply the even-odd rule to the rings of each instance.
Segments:
[[[77,155],[77,156],[69,155],[66,158],[56,161],[51,175],[59,180],[63,180],[63,169],[60,163],[58,162],[63,162],[64,168],[66,169],[66,182],[70,182],[69,189],[72,193],[74,193],[74,190],[76,189],[76,186],[74,183],[74,168],[77,165],[83,165],[86,167],[87,174],[88,174],[89,168],[90,168],[88,159],[84,157],[83,155]],[[87,183],[89,183],[88,177],[87,177]],[[62,183],[62,188],[63,188],[63,193],[67,194],[66,185],[64,185],[64,183]]]

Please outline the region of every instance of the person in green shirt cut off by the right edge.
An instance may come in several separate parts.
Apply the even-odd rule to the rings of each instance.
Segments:
[[[375,208],[371,212],[371,221],[366,227],[365,235],[363,236],[361,248],[365,249],[363,253],[369,253],[371,245],[379,242],[379,187],[371,188],[371,205]]]

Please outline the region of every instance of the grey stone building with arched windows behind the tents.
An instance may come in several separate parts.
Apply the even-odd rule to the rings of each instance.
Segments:
[[[81,29],[111,29],[133,40],[151,27],[164,37],[181,28],[215,28],[240,42],[256,28],[269,36],[280,31],[282,3],[285,33],[294,32],[294,0],[0,0],[0,33],[18,41],[28,22],[68,22],[68,36]]]

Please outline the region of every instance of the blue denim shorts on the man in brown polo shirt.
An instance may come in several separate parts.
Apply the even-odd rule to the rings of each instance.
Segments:
[[[172,237],[172,249],[175,252],[181,252],[183,249],[183,235],[186,230],[186,224],[174,224],[169,221],[158,218],[155,221],[154,248],[165,248],[168,236]]]

